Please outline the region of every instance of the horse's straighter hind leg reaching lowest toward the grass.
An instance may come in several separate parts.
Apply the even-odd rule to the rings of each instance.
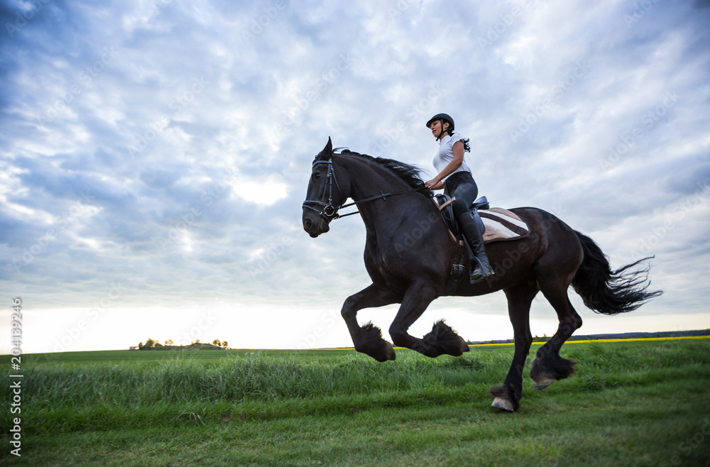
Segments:
[[[532,334],[530,334],[530,303],[537,295],[535,283],[521,283],[505,290],[508,297],[508,314],[515,333],[515,355],[502,386],[491,388],[493,407],[513,412],[520,407],[523,394],[523,368],[528,358]]]

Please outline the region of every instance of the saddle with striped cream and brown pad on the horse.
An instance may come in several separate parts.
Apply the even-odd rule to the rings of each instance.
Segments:
[[[444,224],[449,228],[449,233],[457,241],[458,248],[454,256],[451,273],[447,281],[447,294],[452,295],[459,288],[459,284],[466,277],[466,268],[463,263],[464,250],[469,253],[469,265],[471,264],[473,253],[466,244],[464,235],[459,228],[459,224],[454,216],[452,202],[454,199],[448,194],[437,194],[436,202],[441,212]],[[485,226],[483,234],[484,243],[493,241],[518,240],[530,235],[530,227],[525,224],[515,213],[507,209],[491,208],[486,197],[480,197],[471,204],[471,213],[481,219]],[[465,248],[464,248],[465,246]]]

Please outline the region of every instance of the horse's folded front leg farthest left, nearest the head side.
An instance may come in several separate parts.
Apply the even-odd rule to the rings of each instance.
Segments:
[[[356,317],[357,312],[361,309],[383,307],[388,304],[398,303],[399,299],[400,297],[389,290],[372,284],[345,300],[340,314],[348,326],[356,351],[366,353],[376,361],[383,362],[395,359],[395,351],[392,348],[392,344],[382,339],[382,331],[371,323],[360,326]]]

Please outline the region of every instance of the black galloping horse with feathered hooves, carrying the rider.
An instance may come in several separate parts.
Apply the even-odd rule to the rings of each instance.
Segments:
[[[395,346],[430,357],[444,353],[460,356],[469,350],[443,322],[437,322],[422,339],[408,334],[432,300],[447,294],[458,248],[419,172],[417,167],[396,160],[347,150],[334,153],[329,138],[313,162],[303,203],[303,228],[314,238],[329,230],[330,221],[339,217],[338,210],[347,198],[359,207],[367,232],[365,267],[372,284],[345,300],[342,317],[356,350],[377,361],[394,360],[393,346],[382,339],[376,326],[360,326],[356,314],[363,308],[393,303],[401,304],[389,329]],[[490,391],[493,407],[508,411],[518,410],[520,405],[523,367],[532,342],[530,303],[537,292],[555,308],[559,326],[532,362],[530,376],[535,389],[547,388],[574,373],[577,362],[559,356],[564,341],[581,326],[581,318],[567,297],[570,284],[587,307],[603,314],[631,311],[662,293],[646,291],[649,283],[643,274],[648,268],[630,270],[640,261],[612,271],[591,238],[552,214],[532,207],[511,211],[528,224],[530,235],[488,243],[491,264],[506,267],[496,268],[496,275],[475,285],[464,280],[454,293],[474,296],[503,290],[508,297],[515,356],[503,385]]]

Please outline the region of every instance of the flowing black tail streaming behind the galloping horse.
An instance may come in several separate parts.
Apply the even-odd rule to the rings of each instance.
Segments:
[[[584,249],[584,260],[577,274],[574,275],[572,286],[587,307],[603,314],[630,312],[647,300],[663,293],[660,290],[646,292],[650,285],[648,281],[650,266],[640,270],[629,270],[652,257],[643,258],[612,271],[608,259],[594,240],[577,231],[575,234]],[[643,277],[640,277],[642,275]]]

